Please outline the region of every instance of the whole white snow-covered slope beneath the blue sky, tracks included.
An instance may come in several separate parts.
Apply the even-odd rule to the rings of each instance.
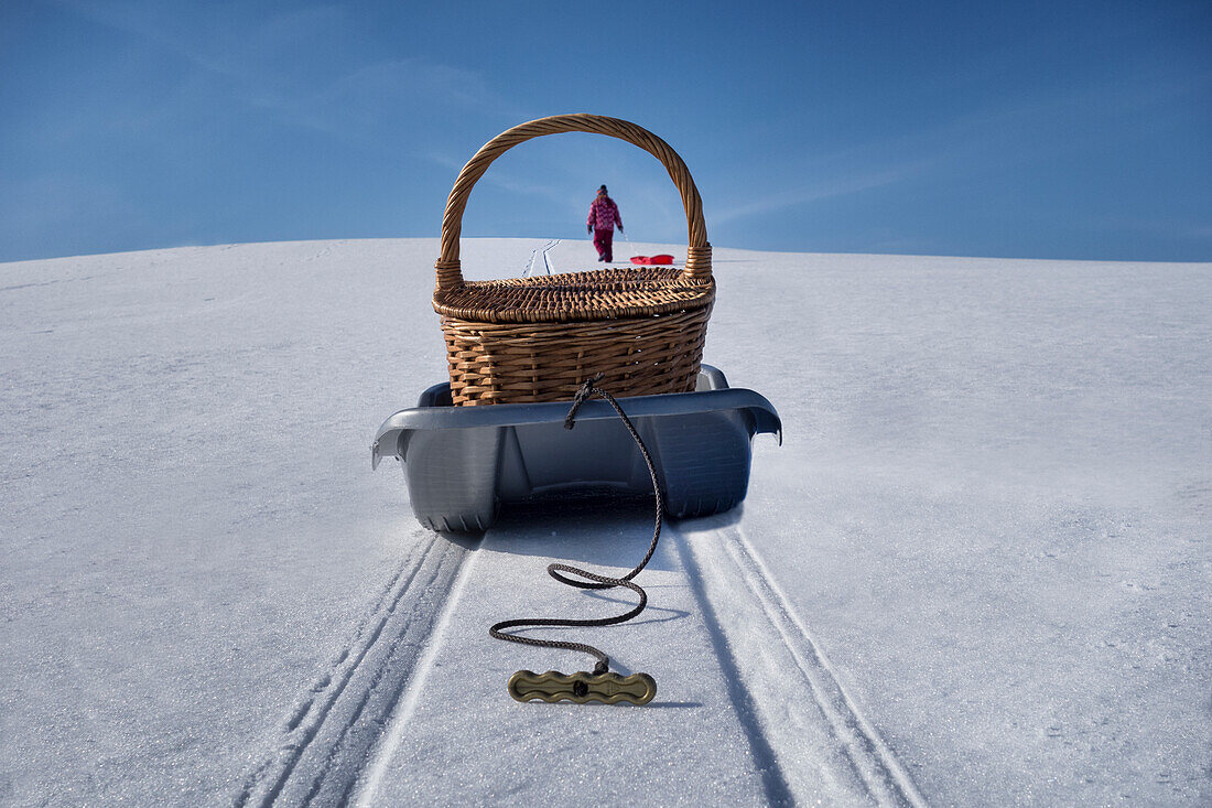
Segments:
[[[636,709],[513,702],[589,660],[487,626],[622,609],[543,570],[629,569],[647,512],[453,545],[370,470],[445,376],[436,251],[0,264],[0,803],[1212,801],[1212,264],[718,249],[705,358],[785,443],[650,611],[549,632]]]

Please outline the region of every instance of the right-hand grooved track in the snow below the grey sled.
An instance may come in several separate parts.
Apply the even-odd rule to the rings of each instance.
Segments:
[[[716,653],[725,667],[739,672],[751,701],[744,711],[755,713],[761,746],[781,769],[790,798],[797,804],[926,806],[749,540],[727,519],[684,523],[669,535],[708,620],[726,641]]]

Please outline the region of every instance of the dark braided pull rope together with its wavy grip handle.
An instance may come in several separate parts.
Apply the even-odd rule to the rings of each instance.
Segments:
[[[504,628],[519,628],[522,626],[572,626],[572,627],[614,626],[621,622],[627,622],[628,620],[631,620],[633,618],[638,616],[641,611],[644,611],[645,607],[648,603],[647,592],[645,592],[644,588],[640,585],[635,584],[631,579],[639,575],[640,570],[647,567],[648,562],[652,561],[653,553],[657,552],[657,542],[661,539],[661,524],[664,519],[664,497],[662,496],[661,493],[661,480],[657,477],[656,465],[653,465],[652,456],[648,454],[648,448],[644,445],[644,440],[640,438],[640,433],[635,429],[635,425],[631,423],[631,420],[629,417],[627,417],[627,414],[623,411],[623,408],[619,406],[618,402],[614,400],[613,396],[601,389],[600,387],[595,386],[599,381],[604,379],[604,376],[605,374],[598,374],[591,379],[587,380],[581,386],[581,389],[577,391],[576,397],[572,399],[572,406],[568,409],[568,415],[564,420],[564,428],[571,429],[576,425],[577,412],[581,410],[581,405],[584,404],[590,398],[593,398],[595,394],[605,398],[607,402],[610,402],[610,405],[614,408],[614,411],[618,412],[618,416],[623,420],[623,425],[627,427],[627,431],[631,433],[631,438],[635,440],[635,444],[640,448],[640,454],[644,455],[644,462],[648,467],[648,474],[652,477],[652,493],[657,500],[656,524],[653,525],[652,529],[652,542],[648,545],[648,552],[645,553],[644,561],[641,561],[635,567],[635,569],[633,569],[630,573],[628,573],[622,577],[599,575],[598,573],[591,573],[589,570],[581,569],[578,567],[571,567],[568,564],[559,564],[559,563],[548,564],[547,573],[560,584],[565,584],[567,586],[574,586],[581,590],[608,590],[616,586],[622,586],[631,590],[638,596],[640,596],[640,602],[635,605],[635,608],[630,609],[629,611],[613,618],[596,618],[591,620],[570,620],[560,618],[522,618],[518,620],[503,620],[492,626],[491,628],[488,628],[488,633],[496,639],[504,639],[511,643],[522,643],[525,645],[539,645],[543,648],[560,648],[564,650],[581,651],[583,654],[589,654],[595,660],[598,660],[591,675],[582,673],[582,675],[574,675],[573,677],[564,677],[564,675],[558,675],[549,671],[545,675],[537,676],[531,673],[530,671],[519,671],[518,673],[514,675],[514,678],[510,679],[510,694],[519,700],[522,699],[519,696],[518,693],[515,693],[514,684],[515,679],[519,679],[519,677],[521,677],[522,675],[528,675],[532,679],[543,679],[543,677],[553,677],[550,678],[550,681],[547,681],[548,684],[550,684],[551,682],[559,682],[560,684],[568,684],[567,688],[564,688],[566,693],[562,693],[560,695],[553,695],[553,698],[548,698],[547,695],[543,694],[536,694],[530,696],[530,698],[542,698],[548,701],[554,701],[558,700],[559,698],[568,698],[573,701],[588,700],[585,699],[585,696],[593,689],[593,687],[595,684],[598,685],[602,684],[604,679],[601,677],[611,677],[611,681],[614,683],[613,687],[604,688],[605,690],[610,690],[611,694],[621,693],[628,684],[635,684],[635,682],[633,681],[635,677],[644,677],[644,679],[647,683],[651,683],[651,692],[648,693],[647,698],[642,699],[642,701],[628,698],[627,695],[622,694],[611,695],[611,698],[608,699],[600,698],[599,700],[602,701],[613,702],[614,700],[625,700],[625,701],[633,701],[635,704],[644,704],[648,699],[651,699],[652,693],[656,692],[656,683],[652,682],[651,677],[648,677],[646,673],[638,673],[631,677],[619,677],[617,673],[610,673],[610,656],[607,656],[605,651],[593,645],[585,643],[574,643],[562,639],[538,639],[534,637],[522,637],[519,635],[505,633],[503,631]],[[566,575],[574,575],[584,580],[566,577]],[[554,677],[561,677],[561,678],[556,679]],[[581,678],[577,679],[576,677]],[[565,682],[565,679],[567,679],[567,682]],[[559,690],[559,688],[551,688],[545,693],[548,693],[548,695],[551,695],[556,690]],[[588,698],[593,698],[593,695],[589,695]]]

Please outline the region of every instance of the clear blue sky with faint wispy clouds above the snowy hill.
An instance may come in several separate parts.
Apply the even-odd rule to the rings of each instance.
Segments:
[[[719,246],[1212,260],[1212,4],[0,4],[0,261],[435,237],[543,115],[685,158]],[[646,153],[522,144],[465,235],[684,243]]]

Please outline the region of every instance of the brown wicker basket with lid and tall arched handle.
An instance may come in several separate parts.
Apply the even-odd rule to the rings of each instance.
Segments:
[[[686,268],[628,267],[507,280],[463,280],[463,210],[488,165],[541,135],[595,132],[639,146],[669,171],[690,227]],[[616,396],[694,388],[715,301],[703,203],[686,164],[652,132],[617,118],[555,115],[492,138],[459,172],[442,217],[434,309],[456,405],[571,399],[594,374]]]

